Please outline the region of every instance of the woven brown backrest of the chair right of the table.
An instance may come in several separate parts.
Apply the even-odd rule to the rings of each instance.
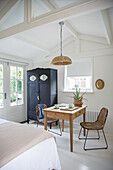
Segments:
[[[106,122],[107,115],[108,115],[108,109],[102,108],[100,110],[98,117],[97,117],[97,121],[99,121],[103,125],[103,127]]]

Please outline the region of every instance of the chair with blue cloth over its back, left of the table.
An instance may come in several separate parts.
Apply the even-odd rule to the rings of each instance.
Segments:
[[[44,124],[44,111],[43,111],[44,108],[47,108],[47,106],[45,104],[37,104],[36,105],[37,126],[38,126],[39,123]],[[50,130],[52,128],[53,123],[56,123],[56,125],[58,123],[60,133],[56,133],[56,132]],[[50,125],[50,129],[48,129],[48,131],[62,136],[62,130],[61,130],[61,127],[60,127],[59,119],[47,118],[47,124]]]

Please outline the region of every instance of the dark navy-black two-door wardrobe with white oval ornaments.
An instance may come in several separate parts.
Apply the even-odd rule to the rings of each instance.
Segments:
[[[27,71],[27,121],[36,119],[36,105],[57,103],[57,70],[37,68]]]

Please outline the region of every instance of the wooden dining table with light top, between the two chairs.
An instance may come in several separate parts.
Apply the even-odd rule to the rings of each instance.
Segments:
[[[85,122],[85,114],[86,114],[86,107],[77,107],[75,110],[67,109],[65,107],[59,107],[55,109],[55,107],[49,107],[43,109],[44,111],[44,129],[47,130],[47,117],[55,118],[55,119],[62,119],[62,131],[64,131],[64,120],[69,120],[70,122],[70,151],[73,152],[73,120],[83,115],[83,122]],[[85,136],[85,129],[84,129],[84,136]]]

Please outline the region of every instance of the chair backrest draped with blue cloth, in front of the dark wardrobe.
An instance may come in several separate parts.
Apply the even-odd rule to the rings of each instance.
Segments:
[[[36,105],[36,115],[38,120],[44,118],[44,111],[43,111],[44,108],[47,108],[45,104]]]

